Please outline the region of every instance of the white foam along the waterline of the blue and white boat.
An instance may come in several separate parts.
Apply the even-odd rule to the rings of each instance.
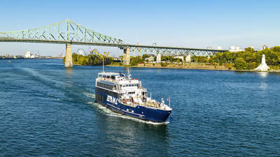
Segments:
[[[103,105],[101,105],[99,103],[94,103],[95,94],[87,93],[87,92],[84,92],[83,94],[85,96],[89,97],[89,98],[92,98],[92,101],[88,101],[87,102],[88,105],[93,105],[95,107],[98,107],[98,109],[101,112],[105,113],[107,116],[120,117],[120,118],[123,118],[123,119],[130,119],[132,121],[137,121],[137,122],[141,122],[141,123],[144,123],[144,124],[152,124],[152,125],[164,125],[164,124],[169,124],[170,123],[169,121],[165,121],[165,122],[144,121],[144,120],[137,119],[137,118],[134,118],[134,117],[130,117],[130,116],[127,116],[127,115],[123,115],[123,114],[119,114],[119,113],[116,113],[116,112],[112,112],[111,110],[109,110],[108,108],[104,107]]]

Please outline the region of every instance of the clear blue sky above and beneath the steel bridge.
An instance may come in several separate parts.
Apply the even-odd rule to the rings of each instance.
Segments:
[[[70,18],[125,43],[201,47],[280,45],[279,1],[0,1],[0,31],[42,27]],[[88,50],[88,46],[74,45]],[[64,45],[0,43],[0,55],[64,52]],[[113,54],[120,50],[99,48]]]

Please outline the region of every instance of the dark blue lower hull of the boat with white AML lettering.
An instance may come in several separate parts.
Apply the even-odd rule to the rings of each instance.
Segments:
[[[112,96],[97,91],[95,92],[95,101],[109,108],[113,112],[143,119],[145,121],[164,122],[172,112],[141,105],[135,105],[135,107],[124,105],[123,103],[120,103],[117,98],[113,98]]]

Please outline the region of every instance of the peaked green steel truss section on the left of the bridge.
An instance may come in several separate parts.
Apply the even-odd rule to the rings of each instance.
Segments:
[[[31,43],[123,43],[121,39],[92,31],[69,19],[36,29],[0,32],[0,38]]]

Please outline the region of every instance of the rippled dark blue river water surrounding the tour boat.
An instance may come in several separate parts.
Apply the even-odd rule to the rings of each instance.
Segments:
[[[0,156],[280,156],[279,73],[131,68],[153,98],[171,97],[154,124],[94,103],[101,70],[1,60]]]

